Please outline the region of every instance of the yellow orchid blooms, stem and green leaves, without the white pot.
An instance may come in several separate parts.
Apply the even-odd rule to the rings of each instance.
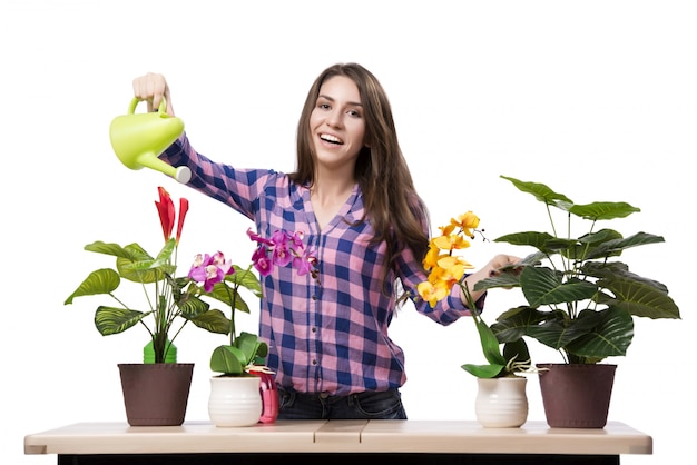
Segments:
[[[491,327],[481,317],[470,289],[462,280],[465,269],[472,265],[461,256],[454,254],[470,247],[468,239],[474,238],[474,233],[480,233],[479,217],[472,211],[451,218],[448,226],[441,226],[441,235],[433,237],[429,243],[429,251],[423,259],[423,266],[429,271],[429,279],[420,283],[416,290],[424,300],[434,307],[439,300],[448,297],[454,285],[460,286],[468,301],[470,314],[474,320],[482,347],[482,353],[488,364],[464,364],[462,369],[478,378],[512,377],[531,368],[528,345],[522,337],[503,344],[494,335]]]

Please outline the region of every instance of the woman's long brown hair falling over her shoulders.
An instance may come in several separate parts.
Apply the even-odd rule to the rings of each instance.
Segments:
[[[363,105],[365,147],[356,160],[355,178],[363,191],[365,215],[376,231],[373,241],[386,243],[392,267],[404,247],[409,247],[416,260],[421,260],[429,245],[423,225],[425,222],[429,230],[428,210],[414,189],[411,172],[402,155],[387,95],[375,76],[361,65],[331,66],[322,71],[310,88],[297,125],[297,169],[289,175],[291,179],[308,186],[315,181],[310,116],[317,102],[320,88],[335,76],[345,76],[356,83]],[[385,267],[386,269],[389,268]]]

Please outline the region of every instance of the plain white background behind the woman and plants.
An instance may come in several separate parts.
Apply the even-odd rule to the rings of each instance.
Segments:
[[[337,61],[361,62],[387,90],[434,227],[472,209],[491,239],[546,229],[542,205],[499,175],[581,204],[641,208],[611,226],[665,236],[625,260],[669,287],[683,320],[637,321],[628,356],[608,360],[618,364],[609,417],[654,437],[654,455],[624,464],[687,463],[697,414],[685,384],[695,366],[696,22],[694,2],[670,0],[1,0],[2,463],[55,463],[23,455],[27,434],[125,422],[116,365],[138,362],[147,334],[100,336],[102,298],[63,306],[89,271],[112,266],[86,244],[158,250],[161,185],[192,204],[181,267],[216,249],[249,260],[247,220],[114,156],[108,127],[128,108],[131,79],[168,77],[199,151],[289,171],[307,89]],[[477,243],[467,258],[481,266],[499,251],[527,253]],[[492,291],[487,314],[521,303],[518,290]],[[256,317],[238,319],[255,329]],[[410,418],[474,419],[475,379],[460,368],[481,362],[471,320],[441,327],[408,306],[392,336],[406,352]],[[196,363],[187,419],[207,419],[208,356],[223,339],[186,328],[177,342],[179,360]],[[534,362],[560,360],[532,349]],[[529,418],[543,419],[534,377],[528,396]]]

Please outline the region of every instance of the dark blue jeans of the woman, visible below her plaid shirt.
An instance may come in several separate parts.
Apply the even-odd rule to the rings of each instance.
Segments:
[[[278,388],[278,419],[406,419],[397,389],[347,396]]]

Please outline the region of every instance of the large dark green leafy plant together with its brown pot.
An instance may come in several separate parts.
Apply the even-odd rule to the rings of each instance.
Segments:
[[[629,271],[628,265],[617,259],[626,249],[662,243],[664,238],[648,233],[624,237],[617,230],[597,228],[600,221],[640,211],[627,202],[575,204],[543,184],[501,177],[544,204],[551,234],[523,231],[494,239],[536,250],[517,264],[516,273],[484,279],[474,289],[519,287],[526,304],[503,313],[492,325],[498,340],[530,337],[561,354],[561,364],[538,364],[543,369],[540,386],[548,424],[603,427],[616,365],[600,362],[627,354],[634,317],[680,318],[665,285]],[[558,211],[568,225],[563,233],[554,224]],[[585,220],[589,227],[577,236],[571,231],[575,220]],[[600,372],[600,377],[582,380],[589,372]],[[573,380],[567,384],[562,373]],[[551,394],[570,397],[557,399]]]

